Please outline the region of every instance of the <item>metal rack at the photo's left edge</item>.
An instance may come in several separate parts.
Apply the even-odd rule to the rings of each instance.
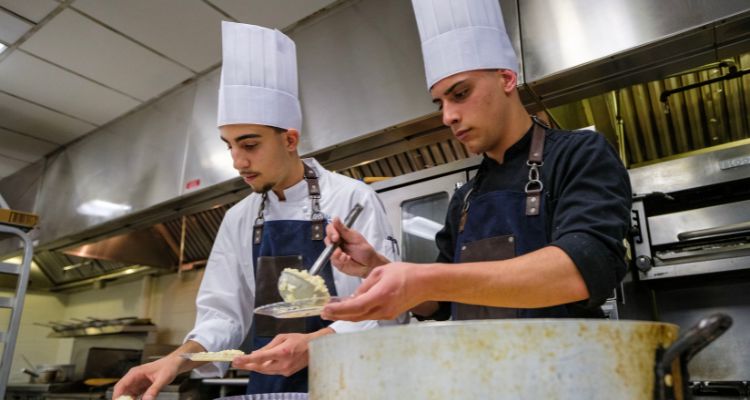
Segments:
[[[0,224],[0,237],[10,234],[18,236],[23,241],[23,261],[20,265],[0,262],[0,274],[18,276],[15,296],[0,296],[0,308],[10,309],[10,323],[7,331],[3,332],[0,327],[0,343],[3,345],[3,355],[0,357],[0,399],[5,398],[5,388],[8,386],[8,376],[13,362],[13,352],[16,347],[18,329],[21,325],[21,313],[23,312],[23,301],[26,297],[26,287],[29,283],[29,270],[34,248],[31,238],[19,228]]]

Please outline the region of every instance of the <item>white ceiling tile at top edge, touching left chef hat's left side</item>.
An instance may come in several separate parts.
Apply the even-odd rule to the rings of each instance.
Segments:
[[[201,0],[78,0],[73,7],[193,71],[221,61],[226,18]]]

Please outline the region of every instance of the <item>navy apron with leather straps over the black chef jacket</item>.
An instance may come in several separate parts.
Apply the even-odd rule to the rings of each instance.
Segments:
[[[544,126],[534,118],[529,149],[529,180],[518,191],[497,190],[472,196],[481,176],[464,197],[456,240],[456,263],[507,260],[548,244],[546,216],[539,168],[543,165]],[[565,306],[546,308],[503,308],[453,303],[454,320],[566,317]]]

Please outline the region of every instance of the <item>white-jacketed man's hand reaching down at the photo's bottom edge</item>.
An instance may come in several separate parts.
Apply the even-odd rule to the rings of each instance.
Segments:
[[[181,361],[176,355],[169,355],[131,368],[115,385],[112,398],[116,399],[124,395],[136,398],[142,394],[143,400],[155,399],[161,388],[177,377]]]

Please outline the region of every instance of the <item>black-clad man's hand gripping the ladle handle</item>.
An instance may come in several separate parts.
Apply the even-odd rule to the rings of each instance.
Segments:
[[[339,243],[331,255],[331,264],[347,275],[364,278],[373,268],[388,263],[361,233],[347,228],[339,218],[326,226],[325,242]]]

